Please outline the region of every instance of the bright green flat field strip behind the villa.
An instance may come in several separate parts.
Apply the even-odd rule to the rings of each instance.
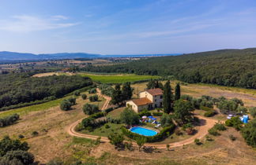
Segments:
[[[92,75],[88,73],[78,73],[79,75],[91,78],[93,81],[100,83],[126,83],[135,82],[145,79],[158,79],[160,76],[155,75],[133,75],[133,74],[122,74],[122,75]]]

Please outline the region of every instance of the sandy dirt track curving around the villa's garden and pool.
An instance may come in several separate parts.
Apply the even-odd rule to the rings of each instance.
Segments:
[[[103,106],[103,108],[101,108],[102,110],[104,110],[105,108],[107,108],[109,102],[111,101],[111,97],[107,97],[105,95],[102,95],[100,94],[100,90],[97,89],[97,92],[98,94],[100,95],[100,97],[104,97],[106,99],[106,102]],[[180,147],[180,146],[183,146],[183,145],[189,145],[191,143],[194,143],[194,139],[198,138],[198,139],[201,139],[201,138],[204,138],[206,134],[208,134],[208,130],[210,128],[212,128],[214,126],[214,124],[217,122],[216,119],[210,119],[210,118],[206,118],[206,117],[203,117],[203,116],[197,116],[199,119],[201,119],[201,126],[200,127],[197,127],[197,130],[198,130],[198,133],[197,134],[194,134],[194,136],[190,137],[190,138],[187,138],[183,141],[177,141],[177,142],[173,142],[173,143],[170,143],[170,147]],[[90,134],[81,134],[81,133],[78,133],[76,130],[75,130],[75,127],[77,126],[78,123],[81,122],[82,119],[78,120],[77,122],[75,123],[72,123],[70,125],[70,127],[67,128],[67,132],[68,134],[70,134],[71,136],[75,136],[75,137],[79,137],[79,138],[90,138],[90,139],[93,139],[93,140],[96,140],[96,138],[99,138],[99,136],[95,136],[95,135],[90,135]],[[103,142],[109,142],[108,138],[106,137],[101,137],[100,141],[103,141]],[[134,143],[135,145],[135,143]],[[145,146],[152,146],[152,147],[157,147],[157,148],[166,148],[166,145],[157,145],[157,144],[145,144]]]

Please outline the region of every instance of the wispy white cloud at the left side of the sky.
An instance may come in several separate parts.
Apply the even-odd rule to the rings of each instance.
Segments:
[[[66,19],[66,16],[51,16],[49,18],[28,15],[12,16],[11,20],[0,20],[0,30],[12,32],[45,31],[56,28],[72,27],[78,24],[60,22],[60,20]]]

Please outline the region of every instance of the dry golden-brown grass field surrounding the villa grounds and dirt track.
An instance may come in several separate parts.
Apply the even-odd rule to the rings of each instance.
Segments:
[[[133,87],[134,97],[139,91],[145,88],[146,83],[135,84]],[[175,82],[172,83],[174,88]],[[244,91],[239,89],[225,89],[221,86],[206,86],[189,84],[181,86],[183,94],[190,94],[194,97],[201,97],[202,94],[213,97],[238,97],[243,99],[245,105],[256,106],[254,103],[254,90]],[[104,105],[104,99],[94,104]],[[66,128],[71,123],[85,117],[81,108],[88,102],[81,97],[77,99],[77,105],[73,110],[64,112],[58,106],[40,111],[32,111],[21,115],[18,123],[9,127],[0,128],[0,138],[9,134],[12,138],[17,138],[19,134],[24,135],[24,141],[28,141],[29,151],[41,163],[58,158],[67,163],[75,159],[81,159],[88,163],[100,164],[254,164],[256,161],[256,151],[250,148],[243,140],[241,134],[233,128],[228,128],[220,132],[220,136],[213,137],[214,141],[202,141],[203,145],[185,145],[183,147],[166,149],[148,148],[138,152],[134,145],[134,151],[118,151],[108,143],[93,145],[92,140],[86,138],[73,138],[66,133]],[[119,112],[113,111],[111,116],[116,116]],[[32,132],[37,131],[39,135],[32,136]],[[228,136],[232,134],[237,139],[231,141]]]

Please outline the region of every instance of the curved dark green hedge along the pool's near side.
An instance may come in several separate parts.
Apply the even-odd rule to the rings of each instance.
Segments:
[[[143,136],[141,134],[135,134],[131,132],[130,130],[127,130],[126,127],[121,127],[122,134],[126,135],[126,137],[136,140],[137,138],[145,138],[146,142],[155,142],[160,141],[161,139],[164,139],[168,136],[168,133],[171,134],[175,130],[175,125],[172,124],[170,127],[164,127],[163,130],[160,131],[160,133],[156,134],[152,137]]]

